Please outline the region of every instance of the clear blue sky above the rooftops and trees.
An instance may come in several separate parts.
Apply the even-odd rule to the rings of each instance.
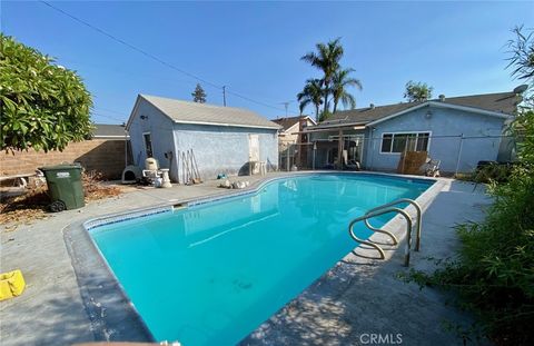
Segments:
[[[532,2],[51,2],[158,58],[275,108],[228,95],[228,106],[284,116],[319,72],[299,58],[342,37],[343,65],[356,69],[359,107],[399,102],[408,80],[434,96],[512,90],[506,41],[533,27]],[[119,122],[137,93],[190,100],[196,80],[73,21],[41,2],[1,2],[6,34],[75,69],[95,97],[93,120]],[[208,102],[219,89],[204,85]],[[312,109],[308,110],[312,112]]]

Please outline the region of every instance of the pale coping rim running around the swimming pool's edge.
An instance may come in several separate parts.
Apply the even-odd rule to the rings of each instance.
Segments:
[[[96,218],[89,218],[85,221],[78,221],[68,225],[63,228],[63,240],[67,246],[67,250],[71,258],[71,264],[75,269],[76,279],[80,289],[80,296],[83,301],[86,313],[91,323],[91,329],[93,332],[95,339],[97,342],[109,340],[128,340],[128,342],[156,342],[151,335],[148,326],[142,320],[142,317],[137,312],[132,301],[129,300],[126,290],[121,286],[120,281],[115,276],[106,258],[100,253],[100,249],[95,244],[93,239],[89,235],[90,229],[122,221],[126,219],[150,216],[160,212],[168,212],[176,207],[182,207],[187,205],[189,207],[199,206],[208,202],[215,202],[221,199],[238,198],[247,195],[254,195],[260,191],[260,189],[271,181],[287,179],[288,177],[299,177],[308,175],[375,175],[384,177],[394,177],[400,179],[413,180],[426,180],[434,181],[422,195],[416,198],[416,201],[421,205],[423,211],[428,207],[432,200],[437,196],[445,186],[445,182],[441,178],[421,177],[421,176],[406,176],[384,172],[370,172],[370,171],[336,171],[336,170],[316,170],[316,171],[298,171],[288,172],[287,175],[278,177],[269,177],[255,181],[249,187],[238,190],[224,190],[221,192],[210,194],[208,196],[186,199],[170,199],[169,201],[157,204],[149,208],[135,208],[126,212],[102,215]],[[413,209],[413,210],[412,210]],[[405,208],[411,215],[415,208],[408,206]],[[393,253],[400,249],[404,235],[402,226],[404,220],[399,217],[394,217],[383,228],[392,231],[399,239],[399,245],[392,249],[386,249],[385,260],[390,259]],[[385,238],[379,234],[374,234],[370,239],[377,241],[384,241]],[[424,239],[424,238],[423,238]],[[424,241],[423,241],[424,244]],[[362,246],[355,247],[363,256],[373,257],[376,256],[376,250],[366,249]],[[97,255],[97,256],[95,256]],[[354,257],[354,255],[353,255]],[[271,315],[267,320],[260,324],[255,330],[246,336],[239,344],[248,344],[257,337],[261,336],[261,330],[265,329],[269,322],[276,316],[284,314],[285,309],[300,299],[312,287],[320,285],[332,275],[336,275],[334,271],[344,261],[352,258],[352,253],[347,254],[337,264],[335,264],[327,273],[312,283],[305,290],[303,290],[297,297],[285,304],[277,313]],[[352,258],[354,259],[354,258]],[[373,261],[374,259],[364,259],[364,261]],[[399,264],[402,266],[402,264]],[[171,340],[169,340],[171,342]]]

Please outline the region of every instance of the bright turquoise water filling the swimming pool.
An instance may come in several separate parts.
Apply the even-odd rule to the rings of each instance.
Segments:
[[[416,198],[431,184],[372,175],[285,178],[257,194],[90,235],[157,340],[233,345],[356,246],[347,234],[353,218]],[[370,235],[362,225],[356,230]]]

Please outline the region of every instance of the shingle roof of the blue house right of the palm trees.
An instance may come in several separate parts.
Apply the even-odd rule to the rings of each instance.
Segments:
[[[433,99],[429,101],[442,102],[439,99]],[[490,110],[495,112],[502,112],[505,115],[512,115],[517,103],[521,102],[521,97],[514,92],[497,92],[486,95],[473,95],[445,98],[443,103],[478,108],[483,110]],[[357,108],[353,110],[337,111],[327,121],[323,121],[318,125],[328,126],[337,123],[360,123],[365,125],[370,121],[375,121],[385,118],[390,115],[395,115],[399,111],[415,107],[424,102],[403,102],[387,106],[376,106],[375,108]]]

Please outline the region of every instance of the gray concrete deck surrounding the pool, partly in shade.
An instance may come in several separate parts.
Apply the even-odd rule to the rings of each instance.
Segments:
[[[270,177],[287,174],[269,174]],[[240,177],[257,181],[261,177]],[[479,220],[483,207],[491,202],[472,184],[441,179],[442,190],[429,200],[424,212],[422,251],[413,253],[412,267],[425,268],[423,257],[444,258],[457,247],[457,223]],[[21,225],[14,231],[0,234],[1,271],[20,268],[27,281],[26,291],[0,303],[0,342],[2,345],[68,345],[102,340],[140,340],[142,330],[132,330],[136,322],[125,319],[116,328],[100,328],[79,286],[62,230],[71,224],[102,215],[154,207],[169,202],[235,190],[216,188],[219,181],[171,189],[141,189],[89,204]],[[396,279],[406,270],[402,266],[403,249],[389,250],[389,260],[362,260],[349,255],[268,322],[259,326],[243,344],[251,345],[343,345],[365,344],[368,334],[400,334],[403,344],[461,344],[442,329],[445,318],[468,320],[445,298],[431,289],[419,290],[415,284]],[[98,307],[99,301],[93,301]],[[125,301],[117,301],[123,304]],[[108,304],[115,304],[113,301]],[[118,318],[118,317],[117,317]],[[97,318],[98,319],[98,318]],[[142,328],[141,328],[142,329]]]

